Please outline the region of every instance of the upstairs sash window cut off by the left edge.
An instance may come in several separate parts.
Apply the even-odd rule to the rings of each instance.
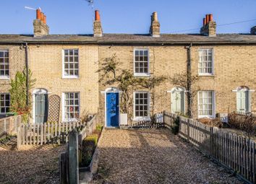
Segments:
[[[9,78],[9,51],[0,51],[0,78]]]

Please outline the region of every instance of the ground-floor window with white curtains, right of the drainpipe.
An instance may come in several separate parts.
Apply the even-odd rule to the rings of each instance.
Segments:
[[[198,117],[214,117],[214,92],[198,92]]]

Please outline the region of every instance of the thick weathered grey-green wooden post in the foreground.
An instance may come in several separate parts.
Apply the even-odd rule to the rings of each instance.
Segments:
[[[75,130],[69,132],[69,183],[78,184],[78,133]]]

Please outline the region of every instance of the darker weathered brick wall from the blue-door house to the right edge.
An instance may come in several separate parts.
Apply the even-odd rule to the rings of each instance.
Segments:
[[[169,77],[186,71],[187,50],[184,46],[100,46],[99,60],[113,56],[115,53],[121,62],[122,69],[133,71],[134,48],[148,48],[150,51],[151,76],[162,74]],[[216,113],[228,113],[236,110],[236,92],[232,90],[239,86],[256,88],[256,46],[249,45],[206,45],[192,47],[192,75],[198,74],[199,48],[213,48],[214,75],[200,76],[194,89],[214,90],[216,94]],[[100,84],[100,91],[109,86]],[[155,89],[155,108],[153,113],[171,110],[171,94],[168,90],[174,87],[167,81]],[[132,97],[132,96],[131,96]],[[187,106],[187,99],[186,99]],[[100,95],[100,110],[104,120],[105,99]],[[185,107],[187,109],[187,107]],[[251,94],[251,109],[256,112],[256,93]],[[197,95],[194,97],[192,113],[197,118]]]

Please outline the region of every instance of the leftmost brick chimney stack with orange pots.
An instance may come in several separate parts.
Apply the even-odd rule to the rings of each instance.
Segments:
[[[46,15],[36,10],[36,19],[33,22],[34,25],[34,37],[42,37],[49,34],[49,27],[46,25]]]

